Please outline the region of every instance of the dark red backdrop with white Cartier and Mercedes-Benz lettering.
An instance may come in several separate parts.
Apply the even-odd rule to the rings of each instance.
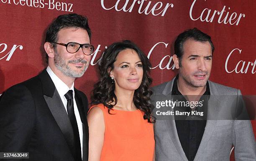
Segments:
[[[194,27],[215,45],[210,80],[256,95],[255,8],[255,0],[0,0],[0,94],[47,66],[46,28],[58,15],[77,13],[87,16],[95,46],[75,81],[87,97],[98,79],[97,59],[111,43],[136,43],[152,63],[155,86],[177,75],[174,41]]]

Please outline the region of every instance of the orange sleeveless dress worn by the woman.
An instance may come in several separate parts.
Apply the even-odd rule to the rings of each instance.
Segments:
[[[100,161],[153,161],[153,123],[143,119],[141,110],[113,109],[110,113],[114,115],[110,115],[103,104],[97,106],[102,110],[105,122]]]

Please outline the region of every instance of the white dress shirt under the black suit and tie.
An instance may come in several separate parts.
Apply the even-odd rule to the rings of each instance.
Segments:
[[[51,77],[52,82],[54,82],[54,85],[59,93],[59,96],[61,98],[61,101],[65,107],[65,110],[67,112],[67,99],[64,96],[69,90],[73,91],[73,101],[74,101],[74,113],[76,116],[76,120],[77,120],[77,126],[78,126],[78,131],[79,131],[79,137],[80,137],[80,145],[81,145],[81,154],[83,157],[83,126],[82,126],[82,121],[79,115],[79,111],[77,108],[77,103],[74,97],[74,83],[72,84],[72,87],[69,88],[67,86],[67,84],[65,84],[61,79],[59,79],[59,77],[56,76],[56,74],[54,74],[54,72],[51,70],[50,66],[48,66],[46,68],[46,71],[48,72],[48,74]]]

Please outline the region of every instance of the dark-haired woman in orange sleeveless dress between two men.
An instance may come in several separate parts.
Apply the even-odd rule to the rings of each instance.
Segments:
[[[153,161],[151,64],[131,41],[113,43],[99,61],[87,115],[89,161]]]

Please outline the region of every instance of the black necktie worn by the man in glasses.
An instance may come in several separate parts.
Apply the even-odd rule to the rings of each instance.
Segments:
[[[69,115],[69,120],[72,124],[73,132],[74,132],[74,145],[75,145],[75,160],[82,161],[81,157],[81,145],[80,145],[80,138],[79,138],[79,131],[77,126],[76,116],[74,114],[74,102],[73,102],[73,91],[69,90],[65,95],[67,99],[67,112]]]

